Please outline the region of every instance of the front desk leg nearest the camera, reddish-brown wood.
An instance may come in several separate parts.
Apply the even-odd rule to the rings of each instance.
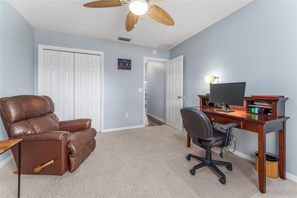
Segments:
[[[259,177],[259,191],[266,192],[266,134],[264,133],[264,126],[258,125],[258,177]]]

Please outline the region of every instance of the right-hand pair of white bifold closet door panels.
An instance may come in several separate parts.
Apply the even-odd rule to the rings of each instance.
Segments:
[[[100,56],[75,53],[74,57],[74,119],[91,118],[99,131]]]

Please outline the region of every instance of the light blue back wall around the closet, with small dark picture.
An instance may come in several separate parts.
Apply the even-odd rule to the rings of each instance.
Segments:
[[[35,29],[35,94],[37,94],[37,45],[104,52],[104,129],[143,125],[143,57],[169,59],[169,50]],[[118,70],[118,58],[131,59],[131,70]],[[125,114],[129,113],[129,118]]]

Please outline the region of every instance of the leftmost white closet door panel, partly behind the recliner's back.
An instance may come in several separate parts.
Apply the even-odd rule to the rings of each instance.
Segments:
[[[53,100],[59,117],[59,51],[43,50],[43,82],[41,95]]]

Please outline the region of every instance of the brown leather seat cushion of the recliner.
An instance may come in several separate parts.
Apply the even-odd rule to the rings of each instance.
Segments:
[[[97,132],[94,128],[85,128],[77,131],[69,131],[70,137],[68,142],[69,157],[77,155],[80,150],[94,137]]]

